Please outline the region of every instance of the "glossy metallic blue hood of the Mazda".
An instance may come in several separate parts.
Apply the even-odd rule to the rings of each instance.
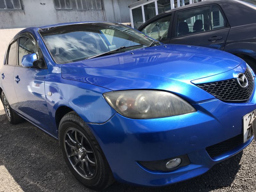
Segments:
[[[208,82],[229,79],[233,78],[234,70],[244,72],[245,68],[243,60],[227,52],[166,44],[64,64],[61,72],[65,79],[113,91],[158,89],[200,101],[214,96],[198,88],[193,80],[200,79],[202,83],[205,77]],[[223,73],[225,76],[219,75]],[[218,75],[222,79],[218,79]]]

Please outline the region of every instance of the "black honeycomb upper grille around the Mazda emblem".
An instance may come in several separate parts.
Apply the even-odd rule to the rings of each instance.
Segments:
[[[244,75],[248,80],[248,86],[245,89],[242,89],[237,84],[237,79],[228,79],[207,84],[197,84],[197,86],[223,101],[248,101],[253,92],[254,79],[252,72],[248,67],[246,68]]]

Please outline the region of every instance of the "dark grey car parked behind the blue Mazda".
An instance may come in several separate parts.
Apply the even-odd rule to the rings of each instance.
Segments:
[[[208,0],[163,12],[138,30],[166,44],[230,52],[256,71],[255,18],[255,0]]]

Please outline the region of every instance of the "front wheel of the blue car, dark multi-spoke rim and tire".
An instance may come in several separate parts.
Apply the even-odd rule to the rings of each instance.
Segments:
[[[86,187],[103,190],[114,182],[107,159],[97,140],[76,112],[71,111],[61,119],[59,142],[69,169]]]

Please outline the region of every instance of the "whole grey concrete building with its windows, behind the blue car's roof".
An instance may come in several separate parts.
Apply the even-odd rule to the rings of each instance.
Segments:
[[[0,29],[75,21],[130,22],[137,0],[0,0]]]

